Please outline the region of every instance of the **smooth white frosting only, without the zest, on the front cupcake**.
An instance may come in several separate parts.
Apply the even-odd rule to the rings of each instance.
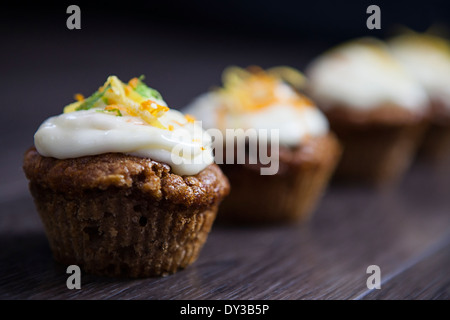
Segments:
[[[178,175],[195,175],[213,163],[211,137],[198,123],[176,110],[166,110],[157,120],[155,126],[126,110],[118,116],[95,107],[47,119],[34,143],[45,157],[118,152],[166,163]]]

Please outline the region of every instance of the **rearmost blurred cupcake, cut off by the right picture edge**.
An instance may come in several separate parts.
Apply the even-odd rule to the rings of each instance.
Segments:
[[[450,42],[429,34],[407,33],[392,38],[395,58],[427,91],[430,126],[420,155],[437,165],[450,164]]]

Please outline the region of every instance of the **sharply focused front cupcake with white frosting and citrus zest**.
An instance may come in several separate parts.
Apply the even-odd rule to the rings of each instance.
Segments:
[[[110,76],[77,95],[25,153],[54,258],[87,273],[149,277],[188,266],[229,192],[211,137],[142,79]]]

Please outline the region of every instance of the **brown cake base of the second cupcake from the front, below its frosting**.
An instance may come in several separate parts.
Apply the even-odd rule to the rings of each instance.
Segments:
[[[340,158],[340,145],[334,137],[328,137],[326,145],[319,159],[287,165],[287,170],[275,175],[260,175],[259,170],[246,165],[222,165],[231,192],[219,208],[218,222],[276,224],[308,220]]]

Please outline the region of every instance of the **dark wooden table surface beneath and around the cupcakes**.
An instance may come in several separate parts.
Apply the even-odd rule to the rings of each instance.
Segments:
[[[433,178],[434,177],[434,178]],[[333,184],[304,225],[215,224],[199,259],[164,278],[82,274],[66,287],[25,189],[1,202],[1,299],[449,299],[450,198],[416,165],[395,190]],[[2,190],[7,186],[2,186]],[[381,289],[369,290],[369,265]]]

